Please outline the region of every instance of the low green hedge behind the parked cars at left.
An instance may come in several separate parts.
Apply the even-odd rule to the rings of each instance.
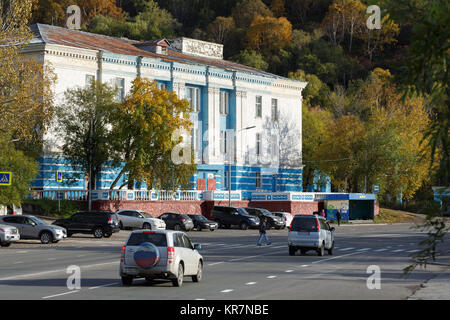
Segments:
[[[61,212],[58,213],[58,200],[27,199],[22,203],[24,214],[42,215],[55,218],[68,218],[80,210],[87,210],[84,201],[61,200]]]

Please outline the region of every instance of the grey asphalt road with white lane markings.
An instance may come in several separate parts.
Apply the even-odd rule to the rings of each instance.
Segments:
[[[109,239],[74,235],[57,244],[21,241],[0,248],[0,299],[406,299],[443,266],[428,265],[405,278],[402,269],[418,250],[425,234],[410,224],[336,227],[332,256],[289,256],[287,230],[271,230],[271,246],[256,246],[255,230],[191,231],[201,243],[204,278],[185,278],[181,288],[171,282],[137,279],[123,287],[118,274],[120,250],[129,231]],[[450,262],[448,241],[439,261]],[[69,290],[66,269],[81,268],[81,289]],[[368,289],[369,266],[378,266],[381,288]]]

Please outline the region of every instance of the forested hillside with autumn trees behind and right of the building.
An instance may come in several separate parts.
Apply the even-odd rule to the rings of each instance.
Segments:
[[[224,58],[309,84],[304,184],[316,169],[334,191],[429,198],[448,185],[448,25],[442,0],[37,0],[33,22],[136,40],[187,36]],[[369,29],[368,5],[381,8]]]

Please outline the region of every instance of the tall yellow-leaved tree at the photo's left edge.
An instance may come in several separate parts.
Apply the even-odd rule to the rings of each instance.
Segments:
[[[13,173],[11,186],[0,187],[0,204],[18,205],[27,195],[53,115],[50,66],[24,53],[31,6],[32,0],[0,1],[0,171]]]

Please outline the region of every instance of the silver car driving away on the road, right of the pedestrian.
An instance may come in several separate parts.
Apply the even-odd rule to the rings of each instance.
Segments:
[[[292,220],[288,233],[289,255],[293,256],[300,250],[305,254],[308,250],[315,250],[323,256],[325,249],[333,254],[334,228],[328,222],[316,215],[296,215]]]

